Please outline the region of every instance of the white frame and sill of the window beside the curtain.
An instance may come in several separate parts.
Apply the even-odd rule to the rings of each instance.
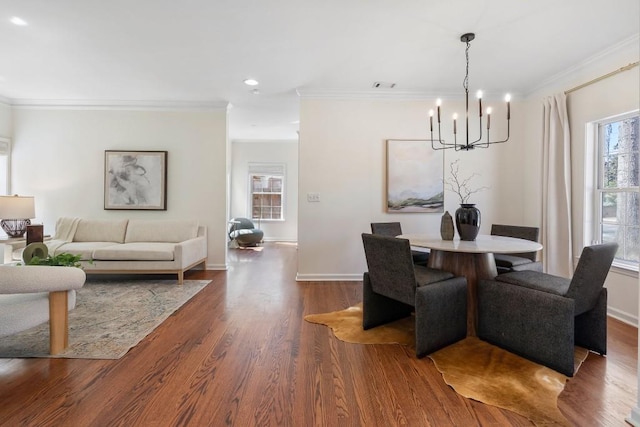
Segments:
[[[634,110],[623,114],[607,117],[601,120],[596,120],[587,125],[587,136],[593,140],[593,180],[592,180],[592,192],[591,192],[591,206],[592,211],[590,215],[585,212],[585,223],[591,223],[592,227],[590,232],[590,239],[586,238],[585,241],[590,244],[596,244],[602,242],[602,227],[606,224],[603,219],[602,198],[606,193],[640,193],[638,187],[605,187],[604,175],[605,175],[605,144],[604,144],[604,128],[606,125],[620,122],[629,118],[638,117],[640,119],[640,110]],[[587,189],[588,190],[588,189]],[[589,220],[591,219],[591,221]],[[624,226],[624,225],[623,225]],[[626,236],[626,233],[625,233]],[[615,258],[613,261],[613,267],[622,271],[634,271],[638,272],[638,262],[624,260],[622,258]]]

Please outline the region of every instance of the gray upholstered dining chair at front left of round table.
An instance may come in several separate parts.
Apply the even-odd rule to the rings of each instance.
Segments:
[[[467,280],[415,265],[406,239],[362,234],[368,272],[363,276],[362,327],[415,311],[416,356],[423,357],[467,335]]]

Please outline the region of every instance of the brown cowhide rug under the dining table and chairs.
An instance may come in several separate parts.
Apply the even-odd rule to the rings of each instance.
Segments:
[[[329,326],[345,342],[414,346],[413,317],[362,329],[362,305],[305,316]],[[588,351],[576,347],[576,371]],[[571,425],[558,409],[558,396],[568,377],[475,337],[429,355],[436,369],[458,394],[527,417],[536,425]]]

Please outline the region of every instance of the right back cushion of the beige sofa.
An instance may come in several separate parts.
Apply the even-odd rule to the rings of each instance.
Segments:
[[[130,220],[125,243],[180,243],[198,236],[198,222],[185,220]]]

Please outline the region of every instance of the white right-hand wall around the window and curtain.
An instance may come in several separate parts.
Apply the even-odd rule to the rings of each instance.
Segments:
[[[540,87],[528,97],[527,110],[527,139],[529,145],[537,144],[542,138],[542,129],[536,118],[542,114],[542,100],[554,93],[563,92],[592,79],[617,70],[627,64],[638,61],[638,38],[614,46],[610,51],[585,64],[580,64],[575,70],[558,76],[557,79]],[[585,215],[585,158],[588,154],[585,144],[585,127],[589,122],[604,119],[613,115],[639,108],[640,103],[640,74],[638,67],[606,78],[597,83],[579,89],[567,96],[568,113],[571,129],[571,167],[572,167],[572,233],[573,253],[580,256],[582,248],[590,244],[588,235],[583,227]],[[527,192],[538,194],[539,188],[535,184],[539,181],[539,164],[536,162],[527,171],[532,177],[527,184]],[[538,186],[539,187],[539,186]],[[587,230],[588,231],[588,230]],[[609,291],[609,315],[625,322],[638,325],[638,275],[613,268],[606,281]]]

